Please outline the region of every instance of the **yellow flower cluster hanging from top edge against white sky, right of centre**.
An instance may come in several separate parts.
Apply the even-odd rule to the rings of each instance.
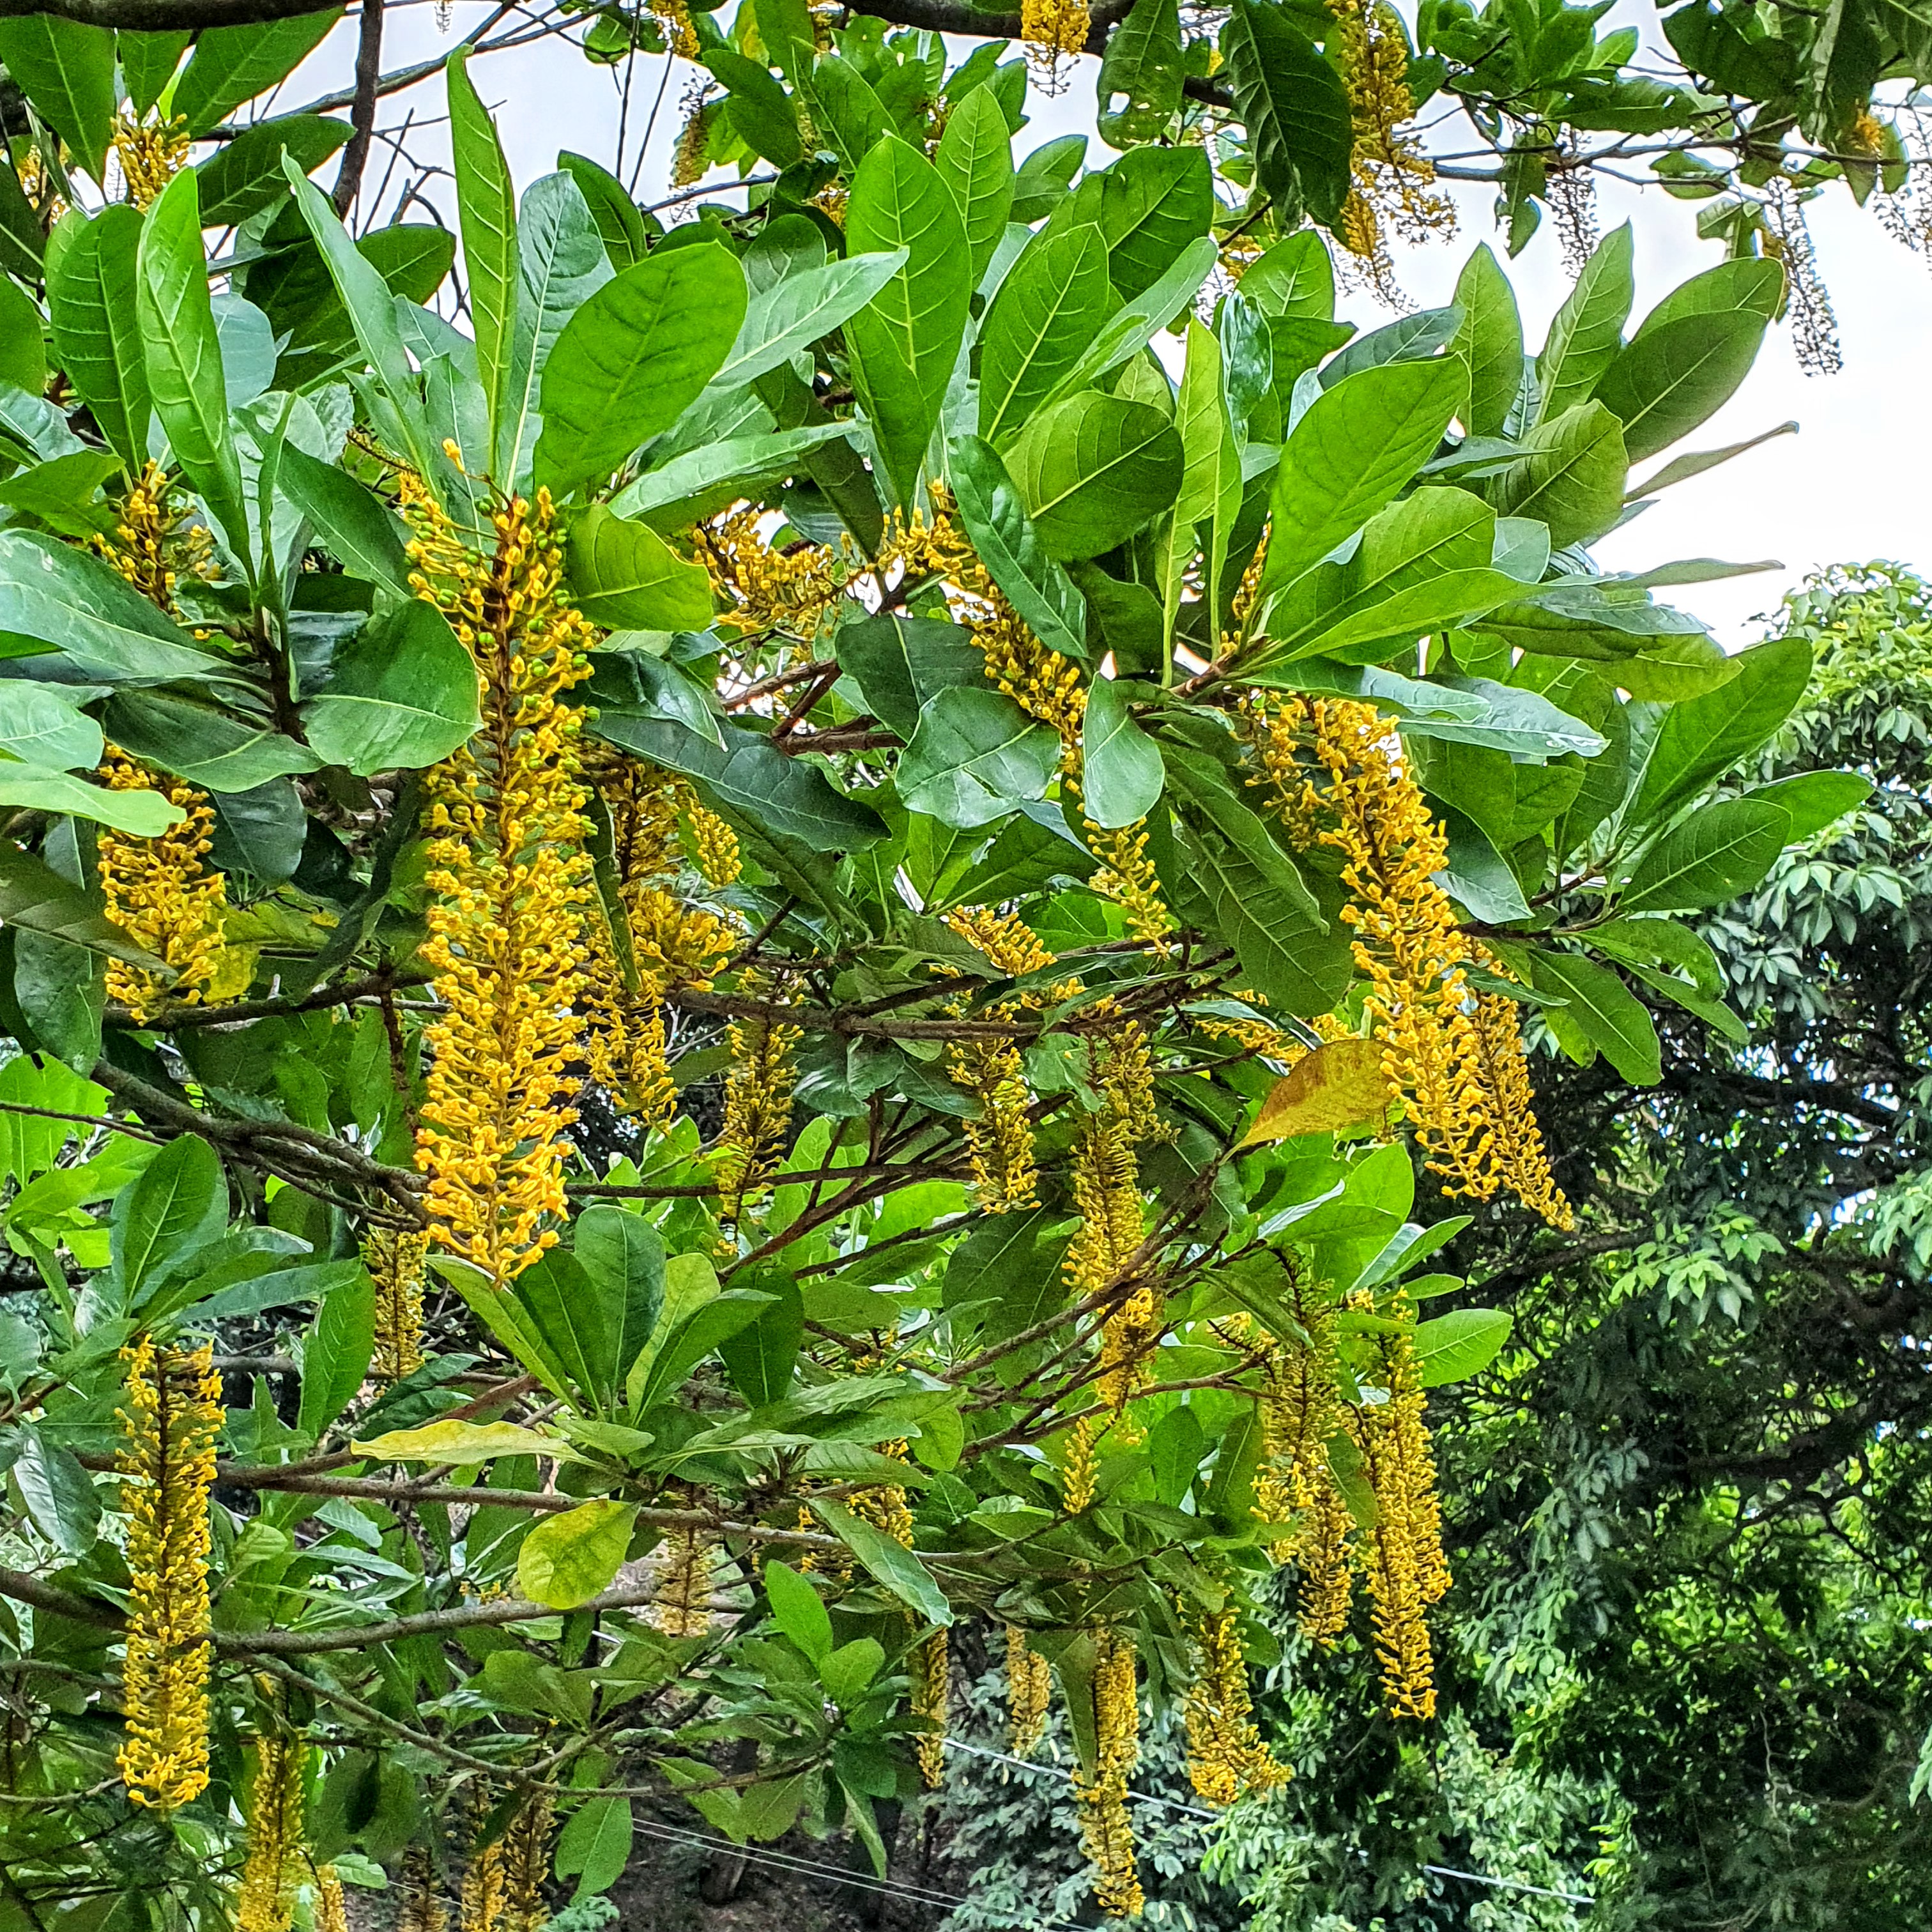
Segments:
[[[1354,185],[1335,234],[1364,267],[1376,296],[1403,305],[1389,261],[1389,236],[1420,243],[1455,234],[1455,205],[1432,187],[1435,166],[1406,124],[1416,116],[1408,91],[1408,41],[1389,0],[1327,0],[1335,15],[1329,48],[1349,83],[1354,126]]]

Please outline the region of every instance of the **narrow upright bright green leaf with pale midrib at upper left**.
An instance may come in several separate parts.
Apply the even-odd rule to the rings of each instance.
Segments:
[[[230,554],[245,564],[242,460],[228,431],[228,383],[209,303],[195,187],[191,172],[178,174],[147,211],[135,257],[135,315],[147,344],[149,394],[174,460],[214,512]]]

